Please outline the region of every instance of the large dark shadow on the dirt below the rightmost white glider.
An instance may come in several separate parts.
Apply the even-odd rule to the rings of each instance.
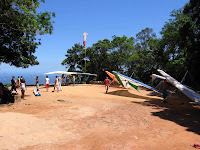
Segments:
[[[152,115],[175,122],[186,127],[187,131],[200,135],[200,106],[190,101],[183,94],[177,93],[170,96],[167,103],[161,103],[160,100],[156,99],[147,99],[144,102],[132,101],[132,103],[152,107],[153,109],[165,108],[162,111],[152,112]]]

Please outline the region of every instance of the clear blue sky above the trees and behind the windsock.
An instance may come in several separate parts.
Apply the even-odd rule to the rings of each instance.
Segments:
[[[183,7],[189,0],[46,0],[39,11],[55,12],[52,35],[40,36],[42,45],[35,55],[38,66],[28,69],[8,64],[0,65],[3,73],[38,73],[65,70],[61,62],[67,49],[83,41],[83,32],[88,33],[86,46],[112,36],[135,37],[142,29],[149,27],[158,37],[173,9]]]

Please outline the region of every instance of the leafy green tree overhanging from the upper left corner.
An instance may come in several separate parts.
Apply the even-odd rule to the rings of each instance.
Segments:
[[[27,68],[37,65],[34,56],[40,39],[36,35],[52,34],[55,13],[37,12],[44,0],[0,1],[0,63]]]

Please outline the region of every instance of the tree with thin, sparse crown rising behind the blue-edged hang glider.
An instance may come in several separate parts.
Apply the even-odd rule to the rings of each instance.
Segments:
[[[156,45],[155,42],[156,34],[151,28],[145,28],[136,34],[136,44],[128,60],[129,76],[134,72],[142,81],[149,81],[156,64],[152,50]]]

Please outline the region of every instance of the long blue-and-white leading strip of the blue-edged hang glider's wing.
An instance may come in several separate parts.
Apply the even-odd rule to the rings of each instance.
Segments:
[[[158,91],[157,89],[155,89],[155,88],[153,88],[153,87],[151,87],[151,86],[149,86],[149,85],[146,85],[146,84],[144,84],[144,83],[142,83],[142,82],[140,82],[140,81],[138,81],[138,80],[135,80],[135,79],[132,79],[132,78],[130,78],[130,77],[127,77],[127,76],[125,76],[125,75],[123,75],[123,74],[121,74],[121,73],[118,73],[118,72],[116,72],[116,71],[113,71],[113,72],[114,72],[114,74],[117,74],[119,77],[121,77],[122,80],[129,81],[130,83],[132,83],[132,84],[134,84],[134,85],[136,85],[136,86],[143,86],[143,87],[146,87],[146,88],[148,88],[148,89],[150,89],[150,90],[153,90],[153,91],[155,91],[155,92],[159,92],[159,93],[160,93],[160,91]]]

